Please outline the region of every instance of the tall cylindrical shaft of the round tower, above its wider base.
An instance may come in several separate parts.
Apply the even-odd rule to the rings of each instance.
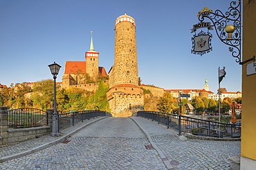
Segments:
[[[113,85],[138,85],[138,64],[136,48],[136,23],[127,14],[116,19],[115,74]]]

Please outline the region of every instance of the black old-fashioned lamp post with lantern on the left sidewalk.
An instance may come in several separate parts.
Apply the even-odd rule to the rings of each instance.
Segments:
[[[60,65],[57,63],[53,63],[51,65],[48,65],[51,70],[51,74],[53,74],[53,79],[54,79],[54,100],[53,100],[53,131],[51,133],[51,136],[60,136],[60,129],[59,129],[59,120],[57,116],[57,104],[56,104],[56,78],[57,74],[59,74],[60,71]]]

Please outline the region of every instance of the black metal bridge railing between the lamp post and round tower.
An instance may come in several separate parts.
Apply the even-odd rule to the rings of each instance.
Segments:
[[[83,122],[86,119],[95,118],[98,116],[111,116],[107,111],[98,110],[84,110],[84,111],[72,111],[64,114],[58,114],[59,116],[59,129],[65,129],[76,123]]]

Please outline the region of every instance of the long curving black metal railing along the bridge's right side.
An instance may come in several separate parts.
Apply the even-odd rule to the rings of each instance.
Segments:
[[[181,132],[190,133],[199,136],[209,137],[241,137],[241,123],[228,124],[217,123],[210,120],[202,120],[199,118],[190,118],[188,116],[180,116],[176,114],[168,114],[159,111],[138,111],[137,116],[150,118],[167,125],[167,128],[172,127]]]

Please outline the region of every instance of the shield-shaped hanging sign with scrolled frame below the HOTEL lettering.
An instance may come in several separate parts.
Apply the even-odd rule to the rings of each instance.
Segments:
[[[192,37],[192,54],[203,55],[212,51],[212,34],[210,32],[199,32]]]

